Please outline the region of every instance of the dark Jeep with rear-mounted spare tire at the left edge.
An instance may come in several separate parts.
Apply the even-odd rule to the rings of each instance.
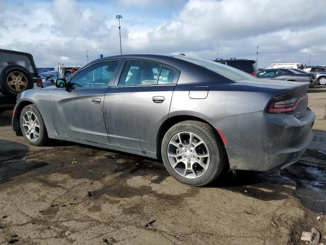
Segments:
[[[28,53],[0,49],[0,112],[13,109],[19,92],[41,82]]]

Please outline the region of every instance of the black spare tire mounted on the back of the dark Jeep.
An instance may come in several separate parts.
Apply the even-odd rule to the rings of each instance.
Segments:
[[[19,80],[11,80],[12,78],[9,77],[10,74],[13,74],[15,76],[22,76],[22,78],[19,78]],[[8,79],[10,82],[15,82],[16,84],[9,85]],[[16,88],[19,86],[19,90]],[[33,78],[30,74],[30,72],[22,67],[21,65],[7,65],[0,68],[0,91],[7,96],[15,97],[17,94],[23,90],[31,89],[33,88]]]

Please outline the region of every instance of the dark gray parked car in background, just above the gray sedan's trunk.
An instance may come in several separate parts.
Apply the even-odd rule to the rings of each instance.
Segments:
[[[265,69],[257,74],[258,78],[284,80],[292,82],[308,82],[309,88],[313,88],[316,84],[315,74],[304,74],[294,69]]]

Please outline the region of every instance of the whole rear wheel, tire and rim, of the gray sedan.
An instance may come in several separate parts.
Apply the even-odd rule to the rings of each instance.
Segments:
[[[200,121],[182,121],[171,127],[161,145],[169,173],[178,181],[203,186],[221,175],[225,150],[214,129]]]

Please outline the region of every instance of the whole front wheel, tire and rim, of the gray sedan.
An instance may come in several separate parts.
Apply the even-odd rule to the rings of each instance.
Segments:
[[[28,105],[22,109],[20,128],[24,138],[30,144],[44,145],[48,140],[43,118],[35,105]]]

